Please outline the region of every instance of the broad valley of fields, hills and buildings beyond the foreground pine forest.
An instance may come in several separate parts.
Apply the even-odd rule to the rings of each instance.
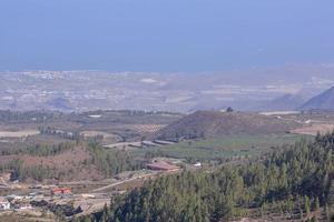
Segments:
[[[67,220],[85,218],[161,176],[263,159],[314,140],[311,132],[334,129],[330,111],[1,111],[0,117],[0,193],[14,196],[20,211],[49,209],[49,221],[63,213]],[[55,195],[55,189],[69,193]]]

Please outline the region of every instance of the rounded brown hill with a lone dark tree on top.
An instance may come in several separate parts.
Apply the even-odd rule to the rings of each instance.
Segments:
[[[225,134],[284,133],[298,123],[277,117],[242,112],[197,111],[156,133],[157,139],[212,138]]]

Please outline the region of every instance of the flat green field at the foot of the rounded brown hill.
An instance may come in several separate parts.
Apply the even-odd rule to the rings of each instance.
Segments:
[[[233,157],[254,157],[262,152],[269,151],[271,148],[293,144],[302,139],[312,139],[297,134],[262,134],[262,135],[224,135],[219,138],[183,141],[173,145],[156,149],[145,149],[134,151],[137,155],[143,155],[148,151],[160,153],[165,157],[181,158],[188,160],[214,160]]]

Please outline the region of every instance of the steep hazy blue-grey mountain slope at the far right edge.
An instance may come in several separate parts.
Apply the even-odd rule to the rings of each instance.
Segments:
[[[310,99],[307,102],[301,105],[301,110],[333,110],[334,109],[334,87],[325,92]]]

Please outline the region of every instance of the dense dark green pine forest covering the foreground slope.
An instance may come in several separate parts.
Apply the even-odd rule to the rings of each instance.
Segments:
[[[334,133],[281,149],[263,161],[183,172],[115,200],[104,221],[228,221],[275,213],[307,219],[334,204]]]

